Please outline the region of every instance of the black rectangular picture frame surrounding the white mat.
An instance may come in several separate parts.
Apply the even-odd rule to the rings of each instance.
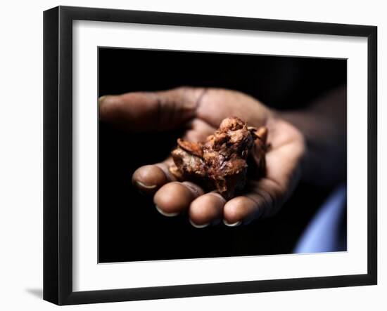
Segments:
[[[248,29],[366,37],[368,46],[367,274],[134,289],[72,289],[72,21]],[[44,300],[106,303],[362,286],[377,283],[377,27],[211,15],[58,6],[44,11]]]

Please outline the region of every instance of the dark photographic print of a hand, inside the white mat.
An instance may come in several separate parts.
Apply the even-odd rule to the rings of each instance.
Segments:
[[[99,263],[346,251],[347,60],[99,47]]]

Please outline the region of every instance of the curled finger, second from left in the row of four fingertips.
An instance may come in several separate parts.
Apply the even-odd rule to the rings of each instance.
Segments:
[[[175,181],[163,185],[153,197],[153,202],[164,216],[176,216],[188,209],[191,201],[203,193],[203,189],[194,183]]]

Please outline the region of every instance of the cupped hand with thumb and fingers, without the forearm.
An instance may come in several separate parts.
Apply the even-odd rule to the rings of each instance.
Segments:
[[[204,141],[222,119],[239,117],[248,126],[267,126],[266,175],[250,178],[243,195],[226,201],[216,191],[205,193],[194,183],[178,181],[169,171],[168,157],[157,164],[141,166],[133,184],[153,195],[160,213],[176,216],[188,211],[195,227],[223,220],[236,226],[272,216],[296,187],[302,173],[305,143],[302,133],[246,94],[219,88],[181,87],[168,91],[107,95],[99,99],[100,118],[132,132],[186,128],[184,139]],[[254,152],[253,152],[254,155]]]

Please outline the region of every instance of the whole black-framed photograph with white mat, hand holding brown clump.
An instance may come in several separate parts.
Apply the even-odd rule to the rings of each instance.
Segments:
[[[374,26],[44,12],[44,299],[377,282]]]

